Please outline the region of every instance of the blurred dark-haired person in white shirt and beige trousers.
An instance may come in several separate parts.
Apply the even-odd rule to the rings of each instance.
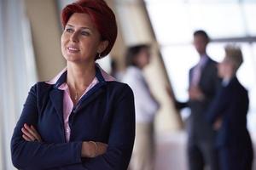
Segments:
[[[143,68],[150,62],[150,48],[139,44],[127,49],[123,82],[133,93],[136,111],[136,138],[131,156],[131,170],[154,169],[154,116],[159,109],[143,76]]]

